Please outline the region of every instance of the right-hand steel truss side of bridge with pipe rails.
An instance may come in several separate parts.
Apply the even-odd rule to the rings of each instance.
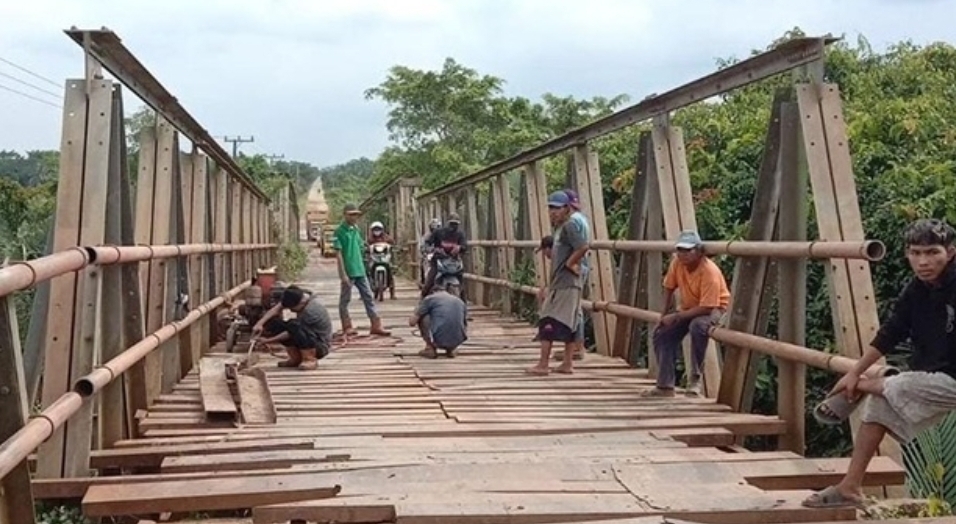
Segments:
[[[421,234],[432,217],[454,210],[470,245],[466,271],[471,301],[512,313],[516,296],[547,283],[548,260],[536,253],[552,231],[547,195],[575,189],[591,223],[591,274],[585,290],[592,309],[597,351],[631,363],[646,358],[656,374],[648,325],[662,308],[662,281],[680,231],[698,229],[694,190],[683,130],[671,114],[753,82],[777,77],[763,158],[755,174],[751,216],[741,241],[706,245],[710,255],[736,258],[728,276],[732,303],[725,326],[712,330],[704,365],[705,394],[733,409],[751,409],[756,354],[778,367],[777,409],[789,426],[781,448],[804,451],[806,366],[845,371],[878,327],[869,262],[884,246],[866,240],[847,148],[838,86],[823,81],[830,38],[798,38],[706,77],[601,118],[514,157],[422,191],[412,208]],[[792,82],[780,81],[789,72]],[[640,125],[626,240],[613,240],[605,212],[605,188],[595,139]],[[566,173],[546,173],[563,157]],[[554,169],[554,168],[552,168]],[[560,169],[560,168],[558,168]],[[563,176],[564,175],[564,176]],[[619,190],[619,189],[618,189]],[[812,196],[812,198],[811,198]],[[808,240],[807,203],[814,205],[819,239]],[[621,204],[619,201],[618,205]],[[807,260],[826,264],[836,344],[835,355],[805,346]],[[519,282],[524,274],[531,280]],[[531,282],[534,286],[530,286]],[[776,297],[774,297],[776,295]],[[777,340],[766,338],[770,309],[778,304]],[[716,343],[721,343],[718,348]],[[685,345],[685,358],[689,347]],[[884,451],[898,448],[885,443]]]

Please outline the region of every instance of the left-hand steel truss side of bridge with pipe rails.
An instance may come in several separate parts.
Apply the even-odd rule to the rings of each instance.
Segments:
[[[136,438],[298,223],[294,191],[270,201],[115,34],[67,34],[87,67],[65,83],[52,254],[0,268],[0,521],[18,524],[35,521],[27,456],[36,477],[86,477],[92,449]],[[135,154],[124,88],[156,111]],[[21,347],[12,294],[34,286]]]

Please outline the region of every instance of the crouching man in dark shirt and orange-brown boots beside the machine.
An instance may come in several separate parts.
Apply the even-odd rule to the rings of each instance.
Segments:
[[[282,320],[288,309],[296,318]],[[252,328],[254,337],[263,344],[282,344],[289,355],[279,367],[315,369],[317,360],[329,354],[332,347],[332,319],[319,297],[300,288],[289,287],[280,302],[273,306]]]

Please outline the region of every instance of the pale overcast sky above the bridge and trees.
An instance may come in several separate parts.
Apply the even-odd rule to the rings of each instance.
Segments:
[[[811,35],[956,42],[956,0],[3,0],[0,149],[58,147],[62,82],[82,75],[70,26],[116,31],[211,134],[320,166],[375,157],[387,108],[363,91],[395,64],[454,57],[506,91],[637,101],[746,56],[794,26]],[[44,80],[4,62],[29,69]],[[8,76],[9,75],[9,76]],[[34,84],[46,94],[10,78]],[[127,99],[127,110],[138,101]],[[228,144],[226,144],[228,146]]]

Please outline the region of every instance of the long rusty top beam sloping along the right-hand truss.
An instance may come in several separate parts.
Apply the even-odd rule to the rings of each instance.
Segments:
[[[547,158],[655,116],[670,113],[804,64],[822,60],[826,46],[838,40],[838,38],[832,37],[806,37],[789,40],[770,51],[742,60],[662,95],[645,98],[639,103],[612,115],[595,120],[464,178],[459,178],[442,187],[423,193],[418,196],[418,199],[434,198],[452,191],[458,191],[482,180],[507,173],[525,164]]]

